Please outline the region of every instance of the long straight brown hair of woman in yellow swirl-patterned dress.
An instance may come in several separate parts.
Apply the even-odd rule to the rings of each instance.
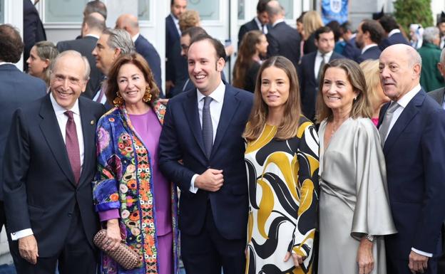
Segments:
[[[269,108],[261,95],[262,72],[266,68],[275,67],[283,70],[289,78],[289,98],[285,102],[285,110],[280,125],[278,125],[276,139],[290,139],[297,135],[300,125],[301,105],[300,105],[300,84],[298,83],[297,70],[290,60],[283,56],[273,56],[262,63],[258,71],[257,83],[255,85],[255,95],[252,112],[247,122],[246,129],[242,134],[247,140],[252,141],[260,137],[260,134],[267,122]]]

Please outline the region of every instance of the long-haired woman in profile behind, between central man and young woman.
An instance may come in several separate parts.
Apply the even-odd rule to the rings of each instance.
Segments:
[[[262,58],[267,53],[266,36],[261,31],[249,31],[242,38],[233,68],[233,86],[253,93]]]

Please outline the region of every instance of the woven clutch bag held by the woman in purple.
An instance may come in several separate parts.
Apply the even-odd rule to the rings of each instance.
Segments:
[[[106,229],[101,229],[98,233],[96,233],[96,236],[94,236],[93,242],[98,248],[101,248],[101,251],[113,258],[116,263],[127,270],[137,268],[140,265],[139,255],[125,243],[121,243],[116,251],[104,251],[102,243],[105,238]]]

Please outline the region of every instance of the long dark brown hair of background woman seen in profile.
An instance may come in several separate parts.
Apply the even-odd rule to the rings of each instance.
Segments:
[[[238,51],[237,60],[233,67],[233,86],[235,88],[245,88],[245,76],[255,60],[252,56],[257,51],[257,44],[261,43],[261,36],[264,34],[261,31],[249,31],[242,38],[240,50]]]

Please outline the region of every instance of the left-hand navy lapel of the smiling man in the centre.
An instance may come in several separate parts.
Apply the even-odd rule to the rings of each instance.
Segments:
[[[195,89],[188,91],[187,100],[183,101],[183,107],[185,116],[187,116],[188,124],[192,129],[193,136],[195,136],[196,142],[198,142],[200,149],[205,155],[204,140],[202,134],[203,131],[201,130],[201,123],[198,113],[198,97],[196,95]]]

